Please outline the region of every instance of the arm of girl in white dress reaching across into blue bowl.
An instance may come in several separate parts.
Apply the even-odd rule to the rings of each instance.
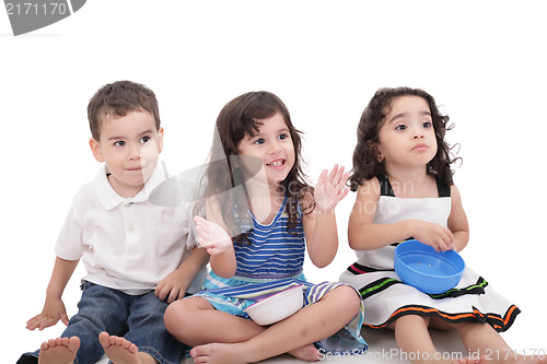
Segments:
[[[452,232],[439,224],[404,220],[392,224],[374,224],[377,201],[380,200],[380,183],[377,178],[364,181],[357,190],[357,200],[351,211],[348,225],[349,246],[356,250],[373,250],[414,237],[435,250],[453,247]]]

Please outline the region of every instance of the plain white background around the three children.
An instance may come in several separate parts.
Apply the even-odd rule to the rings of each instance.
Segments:
[[[160,101],[172,173],[206,161],[222,106],[267,90],[305,132],[307,172],[351,166],[356,128],[381,86],[431,93],[455,122],[455,183],[472,228],[467,263],[523,313],[504,333],[547,350],[545,128],[547,24],[540,1],[113,1],[14,37],[0,14],[3,248],[2,362],[62,330],[25,329],[38,314],[72,196],[95,175],[86,105],[103,84],[132,80]],[[310,280],[354,260],[338,208],[340,248]],[[80,267],[65,294],[79,300]]]

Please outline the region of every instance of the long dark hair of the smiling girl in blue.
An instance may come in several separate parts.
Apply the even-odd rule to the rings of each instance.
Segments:
[[[280,184],[288,197],[287,230],[289,232],[296,226],[298,206],[303,200],[304,195],[306,191],[313,193],[313,188],[307,184],[303,173],[302,132],[293,127],[291,116],[283,102],[275,94],[265,91],[249,92],[235,97],[222,108],[217,118],[209,163],[203,176],[203,199],[196,206],[196,210],[202,211],[207,200],[213,196],[217,197],[222,219],[230,230],[231,236],[234,236],[234,243],[249,243],[248,236],[253,227],[248,216],[248,193],[242,168],[238,166],[242,164],[242,157],[238,157],[237,144],[245,136],[255,136],[263,125],[260,120],[267,119],[276,113],[283,116],[296,156],[287,178]],[[243,188],[234,189],[236,186]],[[230,192],[225,193],[225,191]],[[313,208],[314,206],[303,207],[303,211],[309,213]],[[251,230],[246,233],[240,233],[240,226],[247,224]]]

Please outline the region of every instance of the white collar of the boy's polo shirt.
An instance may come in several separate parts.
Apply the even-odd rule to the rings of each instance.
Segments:
[[[139,193],[132,198],[124,198],[110,186],[106,176],[106,165],[103,164],[95,176],[95,191],[104,208],[106,210],[112,210],[120,204],[148,201],[150,193],[164,180],[165,172],[159,164]]]

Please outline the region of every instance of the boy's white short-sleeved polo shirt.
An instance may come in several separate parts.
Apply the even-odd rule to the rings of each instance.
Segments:
[[[103,165],[95,180],[75,195],[55,253],[61,259],[82,259],[82,281],[127,294],[150,292],[188,258],[196,245],[187,210],[149,201],[166,179],[158,166],[142,190],[123,198],[112,188]],[[207,270],[196,277],[189,293],[201,290]]]

